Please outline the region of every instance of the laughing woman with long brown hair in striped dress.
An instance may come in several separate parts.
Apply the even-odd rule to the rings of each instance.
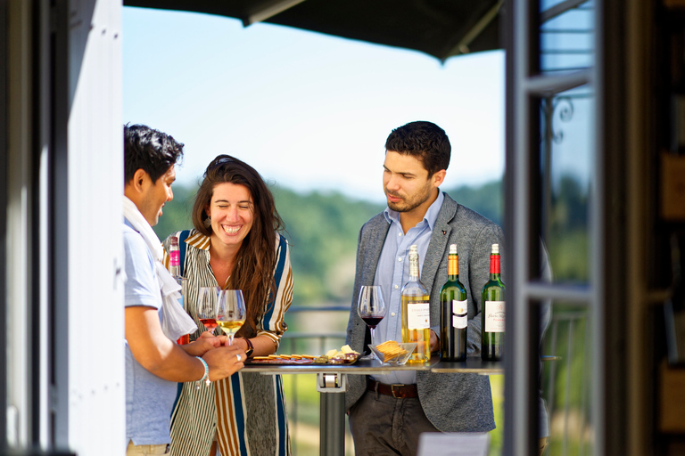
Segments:
[[[293,273],[281,218],[260,174],[228,155],[212,160],[195,196],[193,224],[174,234],[186,242],[186,310],[200,328],[191,339],[202,334],[194,305],[199,289],[240,289],[247,315],[234,344],[247,356],[275,353],[287,330]],[[184,385],[171,424],[172,454],[215,454],[214,441],[221,454],[289,453],[280,376],[239,373],[199,392]]]

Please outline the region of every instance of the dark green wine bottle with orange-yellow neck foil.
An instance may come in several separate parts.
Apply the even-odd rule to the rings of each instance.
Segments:
[[[440,354],[442,361],[466,361],[466,326],[468,301],[459,281],[457,244],[450,245],[447,257],[447,281],[440,290]]]

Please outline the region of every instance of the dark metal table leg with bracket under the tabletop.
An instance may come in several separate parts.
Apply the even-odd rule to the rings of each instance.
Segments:
[[[345,390],[342,373],[317,374],[317,390],[321,393],[320,456],[345,454]]]

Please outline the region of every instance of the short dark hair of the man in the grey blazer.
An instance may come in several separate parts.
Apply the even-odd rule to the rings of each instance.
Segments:
[[[411,155],[424,164],[428,175],[450,166],[450,138],[432,122],[417,120],[392,130],[385,142],[385,151]]]

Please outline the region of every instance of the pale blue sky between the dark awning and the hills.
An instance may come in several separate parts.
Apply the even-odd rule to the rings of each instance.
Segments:
[[[450,136],[445,188],[504,171],[504,53],[415,51],[188,12],[124,8],[124,123],[186,144],[179,183],[219,153],[296,191],[383,201],[392,128]]]

